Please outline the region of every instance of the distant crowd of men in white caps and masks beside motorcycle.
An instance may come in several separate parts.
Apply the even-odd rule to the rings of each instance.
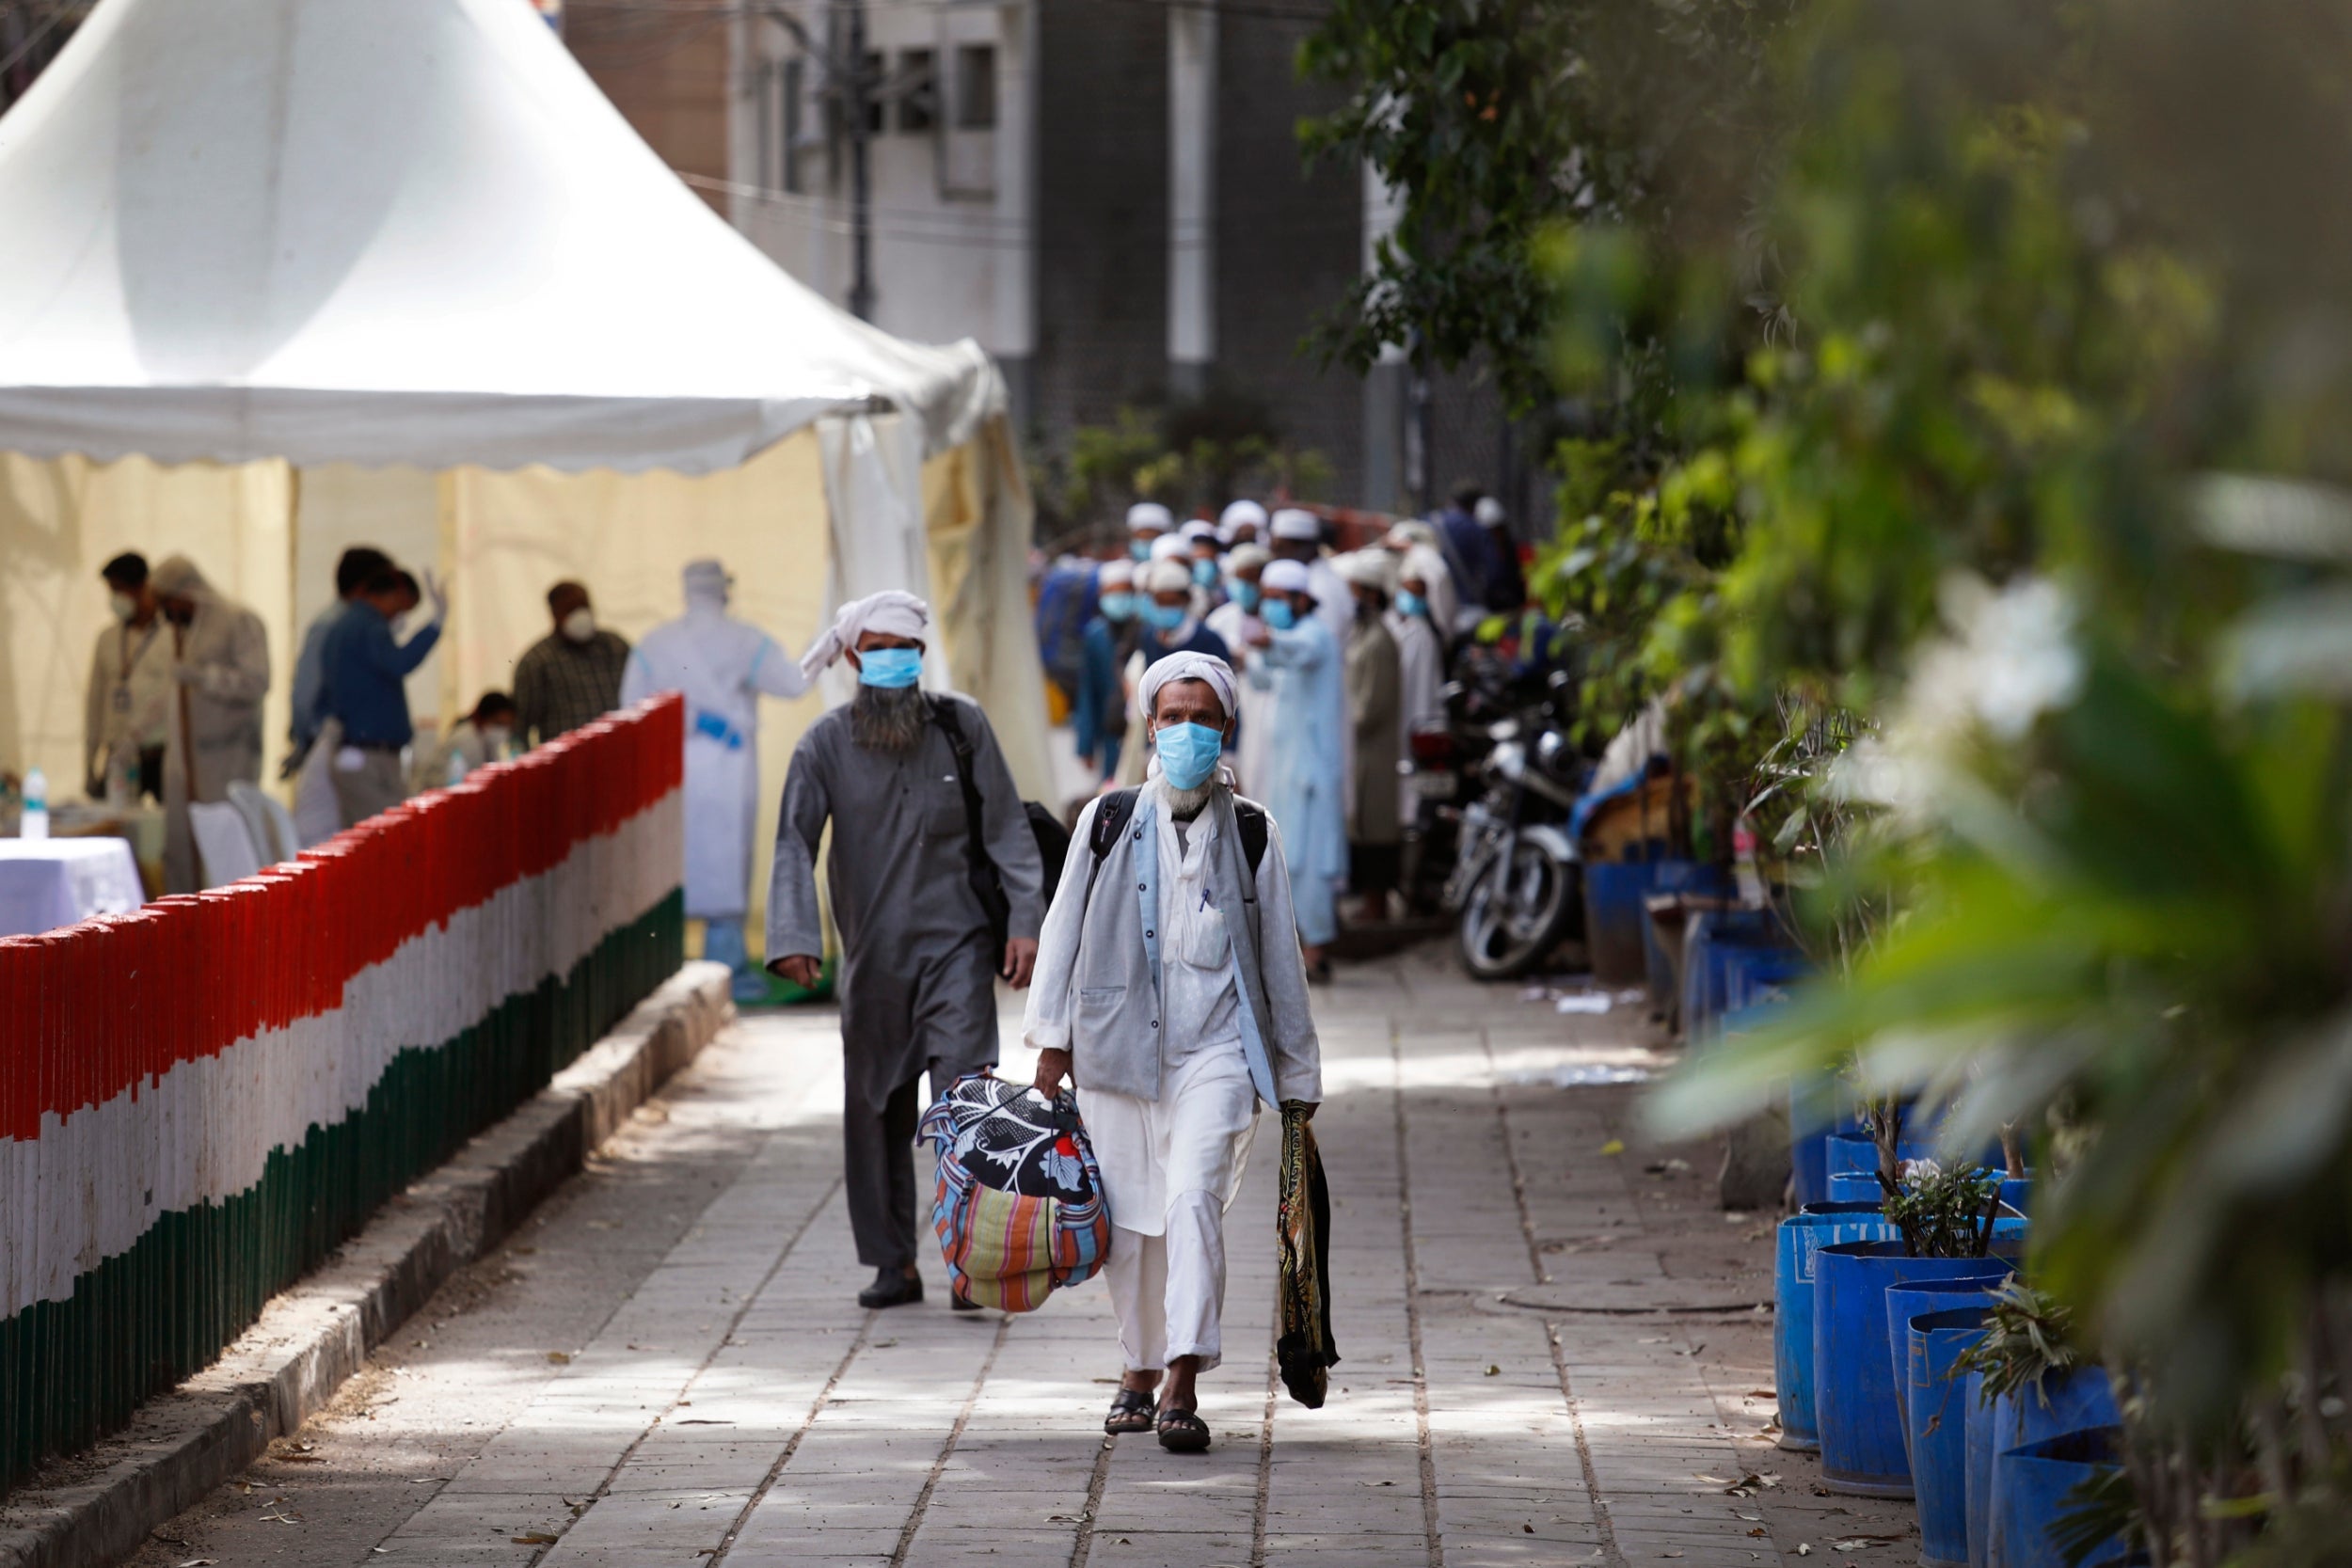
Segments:
[[[1399,522],[1336,557],[1315,512],[1256,501],[1183,524],[1138,501],[1127,531],[1129,557],[1094,571],[1070,705],[1077,752],[1105,788],[1138,783],[1143,672],[1178,651],[1228,661],[1242,675],[1235,773],[1282,827],[1308,971],[1327,980],[1338,889],[1364,922],[1388,917],[1399,764],[1414,726],[1442,717],[1451,649],[1526,602],[1503,508],[1465,484],[1432,522]]]

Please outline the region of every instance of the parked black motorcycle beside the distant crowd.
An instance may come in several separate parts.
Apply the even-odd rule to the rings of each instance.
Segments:
[[[1555,684],[1552,701],[1559,691]],[[1477,980],[1534,971],[1583,926],[1583,863],[1569,813],[1590,769],[1552,701],[1486,726],[1486,790],[1461,811],[1444,907],[1461,917],[1463,969]]]

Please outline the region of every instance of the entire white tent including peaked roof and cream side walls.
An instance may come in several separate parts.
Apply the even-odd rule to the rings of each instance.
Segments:
[[[0,118],[0,769],[80,778],[115,550],[186,550],[261,614],[275,755],[355,541],[452,578],[419,717],[510,684],[555,578],[635,637],[717,555],[793,649],[844,597],[929,597],[934,679],[1051,788],[976,343],[788,277],[524,0],[101,0]],[[762,726],[769,790],[818,710]]]

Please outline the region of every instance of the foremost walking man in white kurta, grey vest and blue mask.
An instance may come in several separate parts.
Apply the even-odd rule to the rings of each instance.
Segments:
[[[1077,1081],[1110,1201],[1124,1378],[1103,1427],[1181,1453],[1209,1446],[1195,1378],[1223,1359],[1225,1206],[1258,1105],[1322,1100],[1279,835],[1218,766],[1235,696],[1204,654],[1145,672],[1152,778],[1080,816],[1023,1023],[1037,1088]],[[1110,802],[1131,816],[1096,858]],[[1265,825],[1256,865],[1249,816]]]

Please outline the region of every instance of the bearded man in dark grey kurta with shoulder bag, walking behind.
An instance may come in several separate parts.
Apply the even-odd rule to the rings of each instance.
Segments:
[[[915,1272],[917,1079],[934,1093],[997,1060],[995,980],[1025,987],[1044,919],[1044,867],[1011,771],[978,703],[917,684],[929,607],[903,592],[842,609],[809,649],[814,677],[847,656],[858,693],[800,738],[783,783],[767,891],[769,966],[818,976],[816,844],[833,823],[826,886],[842,936],[842,1157],[849,1227],[875,1284],[866,1307],[922,1300]],[[1000,947],[971,891],[971,851],[955,748],[936,708],[971,745],[988,858],[1011,914]],[[962,1305],[962,1302],[957,1302]]]

